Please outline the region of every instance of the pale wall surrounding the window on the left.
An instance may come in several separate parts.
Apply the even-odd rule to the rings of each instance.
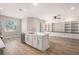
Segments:
[[[13,32],[5,32],[4,30],[4,22],[7,19],[16,20],[16,30]],[[13,37],[21,37],[21,20],[17,18],[7,17],[7,16],[0,16],[0,20],[2,22],[2,34],[4,38],[13,38]]]

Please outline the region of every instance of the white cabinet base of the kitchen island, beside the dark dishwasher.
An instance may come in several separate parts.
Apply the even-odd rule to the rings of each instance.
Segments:
[[[29,34],[25,36],[25,43],[43,52],[48,49],[48,42],[48,35],[45,34]]]

